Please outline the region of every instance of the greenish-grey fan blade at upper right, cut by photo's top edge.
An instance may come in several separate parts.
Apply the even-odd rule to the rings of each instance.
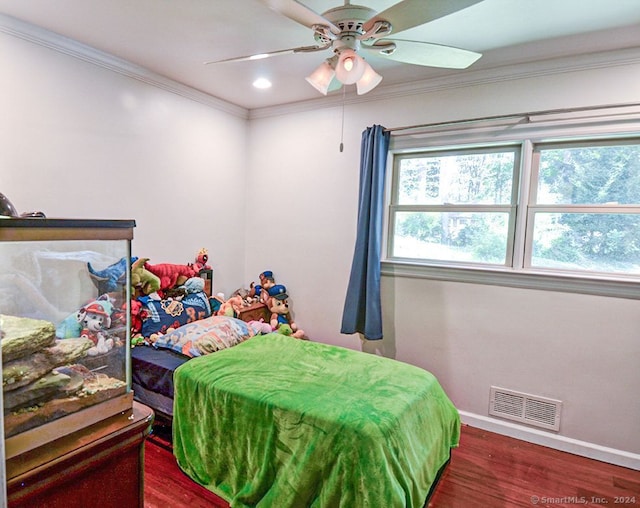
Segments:
[[[465,9],[481,1],[482,0],[403,0],[376,14],[364,24],[363,28],[364,31],[367,32],[373,28],[377,21],[388,21],[392,26],[391,33],[397,34],[414,26],[423,25],[434,19],[442,18],[448,14]]]

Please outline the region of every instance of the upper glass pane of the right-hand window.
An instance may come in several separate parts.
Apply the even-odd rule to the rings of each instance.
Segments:
[[[640,203],[640,145],[540,150],[537,203]]]

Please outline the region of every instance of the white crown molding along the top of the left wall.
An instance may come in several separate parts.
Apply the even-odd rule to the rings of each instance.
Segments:
[[[174,93],[180,97],[199,102],[205,106],[229,113],[244,120],[248,119],[249,111],[236,104],[226,102],[212,95],[200,92],[195,88],[183,85],[172,79],[156,74],[144,67],[135,65],[127,60],[118,58],[91,46],[81,44],[60,34],[50,32],[44,28],[26,23],[6,14],[0,14],[0,32],[17,37],[39,46],[52,49],[58,53],[108,69],[123,76],[136,79],[148,85]]]

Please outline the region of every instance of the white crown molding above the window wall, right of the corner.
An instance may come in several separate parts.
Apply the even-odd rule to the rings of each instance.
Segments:
[[[572,72],[603,69],[625,65],[640,64],[640,48],[625,48],[614,51],[603,51],[569,57],[538,60],[523,64],[504,65],[475,71],[465,71],[438,78],[430,78],[409,83],[381,85],[366,95],[355,93],[329,95],[309,101],[294,102],[279,106],[256,108],[249,110],[249,119],[298,113],[321,108],[341,107],[346,105],[363,104],[366,102],[396,99],[422,95],[425,93],[451,90],[455,88],[470,88],[480,85],[530,79],[541,76],[552,76]]]

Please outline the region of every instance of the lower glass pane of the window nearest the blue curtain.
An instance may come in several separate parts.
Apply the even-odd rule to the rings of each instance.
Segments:
[[[505,264],[508,213],[397,212],[393,256]]]

